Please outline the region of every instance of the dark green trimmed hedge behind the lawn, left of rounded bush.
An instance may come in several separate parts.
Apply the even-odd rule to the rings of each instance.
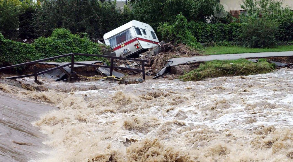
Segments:
[[[192,35],[197,38],[198,42],[224,42],[224,41],[237,41],[241,31],[240,23],[230,24],[208,24],[208,23],[188,23],[188,28]]]

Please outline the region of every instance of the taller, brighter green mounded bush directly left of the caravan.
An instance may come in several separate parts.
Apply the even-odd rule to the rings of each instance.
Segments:
[[[54,57],[67,53],[102,54],[102,44],[92,42],[88,37],[72,34],[66,29],[56,29],[50,37],[40,37],[33,43],[41,58]],[[57,59],[57,62],[70,62],[69,57]],[[105,58],[75,56],[74,61],[100,60]]]

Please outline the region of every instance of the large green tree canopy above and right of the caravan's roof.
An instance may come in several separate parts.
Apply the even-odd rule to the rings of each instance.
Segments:
[[[174,22],[180,13],[187,21],[207,21],[213,15],[219,0],[131,0],[135,20],[149,23],[156,28],[161,22]]]

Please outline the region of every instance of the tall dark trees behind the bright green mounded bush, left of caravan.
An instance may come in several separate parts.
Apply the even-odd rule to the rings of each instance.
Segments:
[[[66,28],[72,33],[88,33],[93,39],[128,21],[128,16],[116,9],[115,1],[45,0],[35,14],[37,35],[48,36],[55,28]]]

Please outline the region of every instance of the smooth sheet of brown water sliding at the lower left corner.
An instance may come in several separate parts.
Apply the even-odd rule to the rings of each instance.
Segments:
[[[0,91],[0,161],[24,162],[40,158],[36,151],[45,148],[42,141],[46,135],[31,122],[52,106],[19,99]]]

